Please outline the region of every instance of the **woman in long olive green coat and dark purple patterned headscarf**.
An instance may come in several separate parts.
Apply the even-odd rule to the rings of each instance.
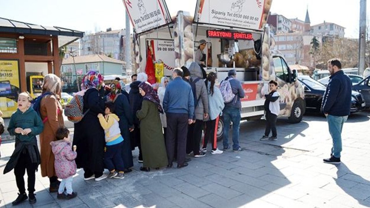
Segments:
[[[143,158],[141,171],[150,171],[150,168],[161,168],[168,165],[166,147],[164,144],[161,119],[163,113],[157,93],[153,87],[142,82],[139,92],[143,96],[141,110],[136,112],[140,119],[140,140]]]

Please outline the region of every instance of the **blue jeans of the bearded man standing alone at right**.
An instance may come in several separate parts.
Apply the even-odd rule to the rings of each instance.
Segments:
[[[332,155],[334,157],[340,157],[342,151],[342,129],[344,122],[347,121],[348,115],[346,116],[334,116],[327,115],[327,123],[329,124],[329,132],[332,135],[333,147]]]

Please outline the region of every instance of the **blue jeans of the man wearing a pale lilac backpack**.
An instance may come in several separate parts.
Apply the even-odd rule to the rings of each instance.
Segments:
[[[239,108],[225,107],[222,111],[223,118],[223,148],[229,147],[229,128],[232,121],[232,148],[239,149],[239,125],[240,125],[240,110]]]

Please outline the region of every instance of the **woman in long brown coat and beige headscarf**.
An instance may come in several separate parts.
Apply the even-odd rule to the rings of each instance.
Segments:
[[[61,91],[60,78],[55,74],[47,74],[44,77],[43,94],[45,95],[40,102],[41,120],[44,123],[44,130],[40,134],[40,154],[41,154],[41,175],[48,177],[50,181],[49,192],[58,191],[60,182],[55,174],[54,154],[51,151],[50,142],[55,141],[55,132],[60,127],[64,127],[63,109],[59,95]]]

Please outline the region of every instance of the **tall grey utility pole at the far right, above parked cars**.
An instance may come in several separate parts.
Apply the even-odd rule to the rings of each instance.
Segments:
[[[366,0],[360,0],[359,75],[365,70]]]

